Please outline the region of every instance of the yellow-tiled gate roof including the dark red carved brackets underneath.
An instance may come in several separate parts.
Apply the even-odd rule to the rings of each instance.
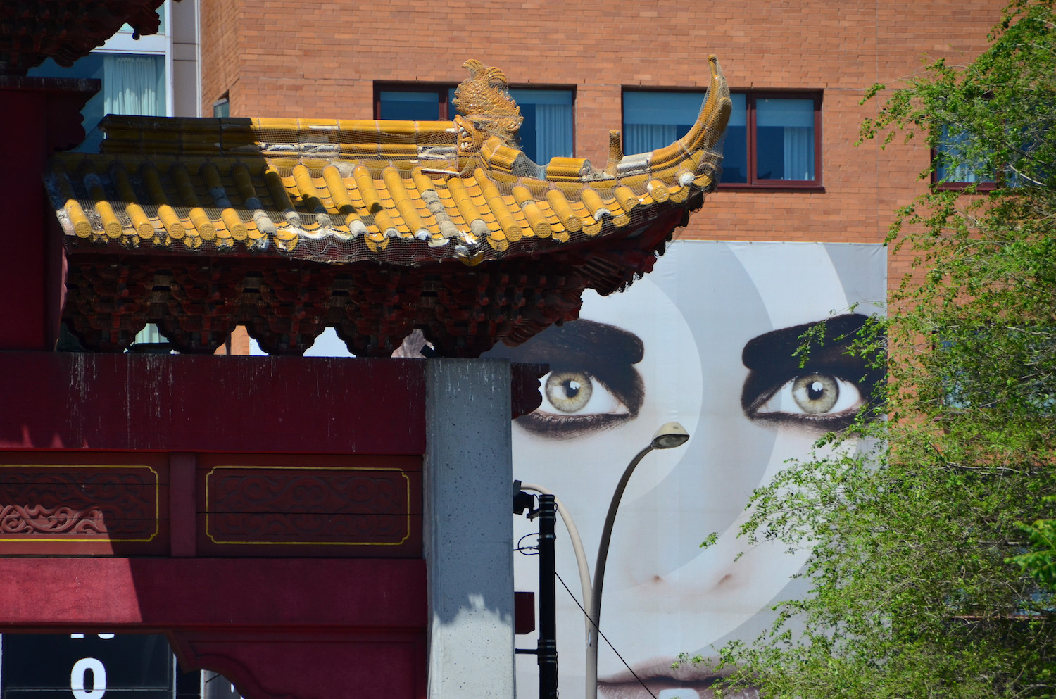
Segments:
[[[602,168],[532,163],[505,76],[475,61],[453,121],[110,116],[101,153],[45,175],[64,321],[105,352],[146,323],[195,353],[237,325],[271,354],[326,327],[360,356],[414,329],[444,356],[524,342],[574,319],[585,288],[649,271],[714,189],[731,102],[711,65],[683,138],[624,156],[612,132]]]

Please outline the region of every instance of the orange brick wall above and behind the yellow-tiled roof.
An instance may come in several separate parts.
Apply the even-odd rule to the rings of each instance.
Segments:
[[[835,2],[202,0],[206,113],[369,118],[374,81],[457,83],[466,58],[511,84],[574,87],[577,155],[604,164],[624,87],[702,88],[719,56],[732,88],[822,89],[824,192],[717,192],[683,238],[880,242],[921,188],[928,152],[854,147],[874,82],[922,58],[969,60],[1003,0]],[[892,281],[902,261],[892,260]]]

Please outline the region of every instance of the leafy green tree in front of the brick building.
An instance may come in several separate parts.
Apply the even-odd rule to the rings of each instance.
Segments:
[[[723,649],[733,685],[1056,696],[1054,4],[1014,2],[970,64],[867,96],[886,100],[863,138],[925,139],[996,187],[932,187],[898,212],[888,242],[913,270],[855,350],[888,369],[887,419],[863,413],[756,492],[744,533],[810,542],[812,591]]]

